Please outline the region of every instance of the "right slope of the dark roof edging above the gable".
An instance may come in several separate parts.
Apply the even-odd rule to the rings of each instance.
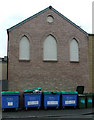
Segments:
[[[78,25],[76,25],[74,22],[72,22],[71,20],[69,20],[67,17],[65,17],[64,15],[62,15],[60,12],[58,12],[56,9],[54,9],[52,7],[52,10],[57,13],[59,16],[61,16],[62,18],[64,18],[66,21],[68,21],[70,24],[72,24],[73,26],[75,26],[76,28],[78,28],[80,31],[82,31],[84,34],[86,34],[88,36],[88,33],[86,31],[84,31],[82,28],[80,28]]]

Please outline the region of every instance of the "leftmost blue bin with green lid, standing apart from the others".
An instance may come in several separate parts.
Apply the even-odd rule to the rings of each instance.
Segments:
[[[19,108],[19,92],[18,91],[3,91],[2,94],[2,109]]]

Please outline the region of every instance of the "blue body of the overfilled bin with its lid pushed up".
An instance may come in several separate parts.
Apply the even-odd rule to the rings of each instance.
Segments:
[[[26,110],[30,107],[41,107],[42,93],[24,93],[24,106]]]

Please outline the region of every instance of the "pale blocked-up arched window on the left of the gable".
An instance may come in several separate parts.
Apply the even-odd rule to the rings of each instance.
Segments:
[[[26,36],[22,37],[19,45],[19,60],[30,60],[30,45]]]

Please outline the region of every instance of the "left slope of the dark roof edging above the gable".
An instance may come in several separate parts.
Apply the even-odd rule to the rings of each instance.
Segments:
[[[44,12],[45,12],[46,10],[48,10],[48,9],[49,9],[49,7],[47,7],[46,9],[44,9],[44,10],[42,10],[42,11],[40,11],[40,12],[34,14],[33,16],[31,16],[31,17],[29,17],[29,18],[23,20],[22,22],[20,22],[20,23],[14,25],[14,26],[12,26],[11,28],[7,29],[7,32],[10,32],[11,30],[15,29],[16,27],[18,27],[18,26],[20,26],[20,25],[22,25],[22,24],[28,22],[29,20],[35,18],[36,16],[38,16],[38,15],[44,13]]]

